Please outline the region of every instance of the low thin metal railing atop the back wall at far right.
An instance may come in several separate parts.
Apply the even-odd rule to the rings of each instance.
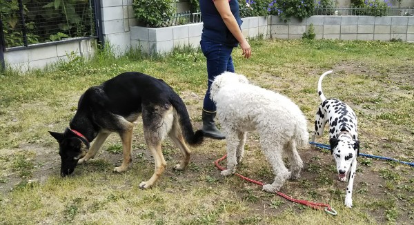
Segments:
[[[315,16],[339,15],[339,16],[412,16],[414,8],[351,8],[351,7],[325,7],[315,8]]]

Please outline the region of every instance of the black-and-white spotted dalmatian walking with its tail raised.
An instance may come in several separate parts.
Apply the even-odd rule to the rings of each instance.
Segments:
[[[357,116],[351,107],[339,99],[326,99],[322,92],[322,79],[331,72],[332,70],[324,72],[317,84],[322,103],[316,113],[315,133],[312,135],[312,141],[315,141],[315,137],[322,137],[325,124],[328,123],[329,144],[331,144],[331,154],[336,162],[339,180],[346,182],[346,175],[348,175],[345,206],[352,208],[353,182],[359,155]]]

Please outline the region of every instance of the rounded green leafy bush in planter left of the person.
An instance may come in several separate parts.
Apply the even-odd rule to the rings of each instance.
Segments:
[[[174,16],[175,0],[134,0],[135,18],[150,28],[166,26],[166,21]]]

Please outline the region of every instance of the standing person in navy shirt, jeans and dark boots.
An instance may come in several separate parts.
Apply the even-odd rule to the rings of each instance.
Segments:
[[[240,44],[242,55],[248,59],[251,48],[244,38],[240,26],[237,0],[199,0],[203,32],[201,33],[201,51],[207,59],[208,88],[203,102],[203,132],[205,137],[225,139],[215,126],[216,106],[210,99],[210,86],[217,75],[223,72],[235,72],[231,52]]]

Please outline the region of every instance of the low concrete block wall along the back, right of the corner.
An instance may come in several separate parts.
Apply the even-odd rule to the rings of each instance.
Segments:
[[[311,24],[316,39],[364,40],[364,41],[414,41],[414,17],[369,16],[312,16],[292,19],[288,22],[279,17],[270,19],[270,36],[279,39],[300,39]]]

